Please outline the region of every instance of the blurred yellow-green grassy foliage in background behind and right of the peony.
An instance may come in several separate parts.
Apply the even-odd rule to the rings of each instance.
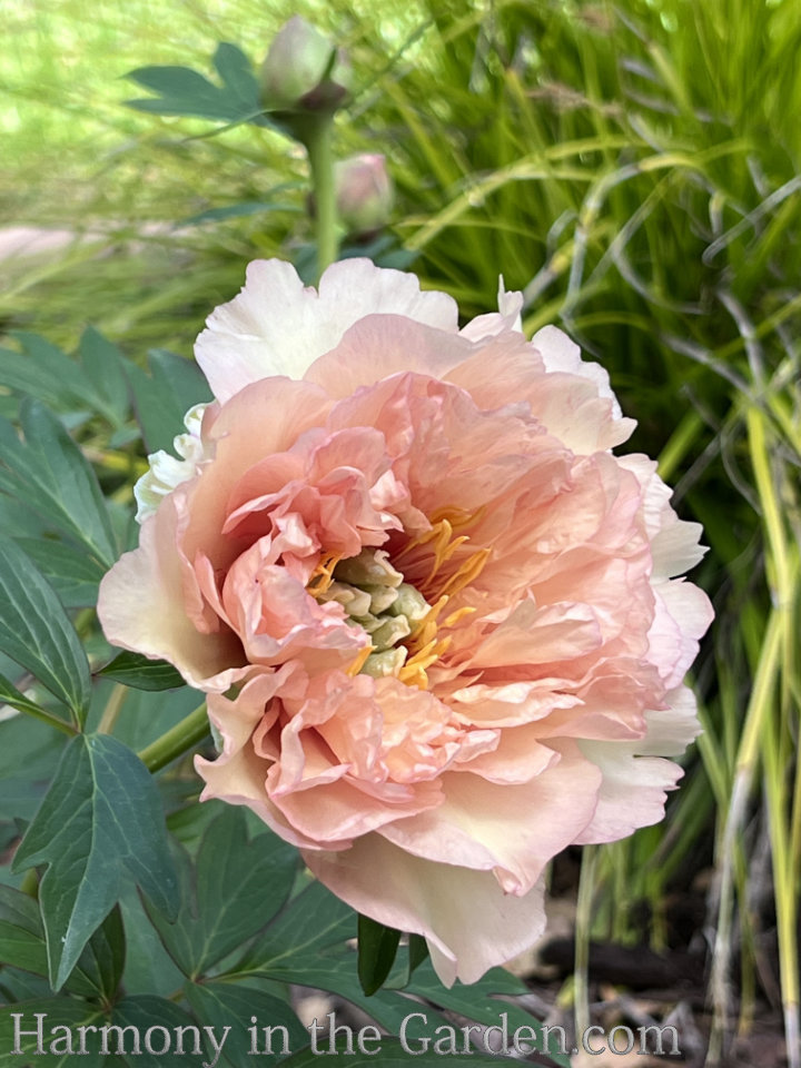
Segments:
[[[632,446],[706,531],[705,734],[664,823],[585,850],[580,966],[591,936],[705,948],[712,1057],[767,1001],[798,1065],[798,0],[7,0],[0,225],[58,233],[40,253],[0,235],[0,329],[73,348],[91,323],[135,360],[189,356],[247,260],[303,265],[294,142],[123,106],[132,68],[210,75],[219,41],[257,66],[297,12],[352,57],[337,155],[384,152],[396,185],[366,251],[465,316],[502,271],[526,330],[556,323],[609,368]],[[676,894],[700,902],[690,932]]]

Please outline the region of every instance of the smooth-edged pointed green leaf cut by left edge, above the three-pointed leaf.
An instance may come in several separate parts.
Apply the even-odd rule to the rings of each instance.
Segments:
[[[91,689],[83,646],[52,587],[7,538],[0,538],[0,650],[83,721]],[[19,705],[13,693],[6,700]]]

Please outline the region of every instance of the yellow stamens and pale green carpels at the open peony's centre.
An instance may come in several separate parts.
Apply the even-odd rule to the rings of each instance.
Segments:
[[[439,518],[396,555],[395,563],[403,561],[407,570],[422,575],[414,585],[404,580],[389,561],[389,553],[382,548],[365,547],[347,560],[336,555],[320,560],[309,580],[309,593],[318,601],[336,601],[345,610],[347,622],[369,634],[370,644],[348,668],[348,674],[375,679],[394,675],[407,685],[428,689],[426,670],[452,642],[439,631],[449,630],[475,609],[458,609],[442,621],[439,616],[490,557],[490,550],[479,550],[463,551],[457,558],[468,537],[454,536],[457,524],[453,518]],[[465,525],[464,518],[458,525]],[[421,564],[425,564],[423,570]]]

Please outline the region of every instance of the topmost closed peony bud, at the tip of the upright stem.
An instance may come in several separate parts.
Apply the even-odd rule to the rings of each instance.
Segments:
[[[348,73],[332,41],[296,14],[278,31],[261,66],[265,107],[335,111],[347,96]]]

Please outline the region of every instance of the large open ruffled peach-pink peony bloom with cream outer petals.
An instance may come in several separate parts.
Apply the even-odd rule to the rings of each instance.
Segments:
[[[606,373],[527,342],[521,305],[459,330],[367,260],[319,293],[253,264],[197,343],[216,400],[100,591],[109,641],[208,694],[202,797],[425,936],[448,985],[536,941],[556,853],[662,818],[712,615],[679,577],[700,527],[612,453]]]

